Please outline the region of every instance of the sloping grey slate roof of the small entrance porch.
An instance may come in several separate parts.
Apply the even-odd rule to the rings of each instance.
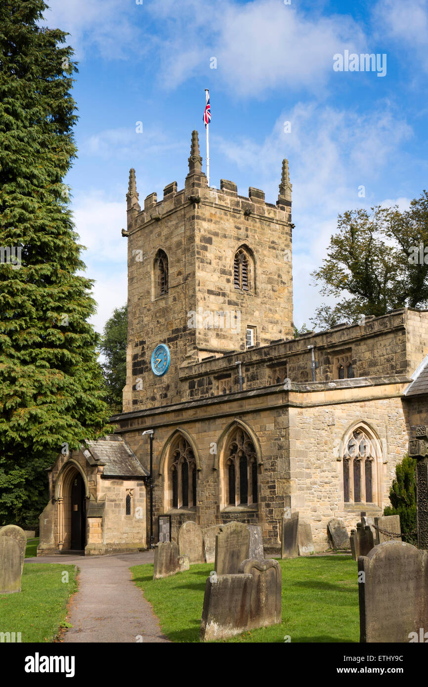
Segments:
[[[148,471],[121,436],[108,434],[86,444],[95,461],[104,465],[103,477],[148,477]]]

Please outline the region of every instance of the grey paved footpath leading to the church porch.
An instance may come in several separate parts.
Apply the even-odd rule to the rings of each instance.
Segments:
[[[168,642],[159,620],[132,581],[129,567],[153,563],[154,554],[76,556],[59,554],[25,559],[27,563],[58,563],[80,568],[79,589],[71,600],[64,636],[74,642]]]

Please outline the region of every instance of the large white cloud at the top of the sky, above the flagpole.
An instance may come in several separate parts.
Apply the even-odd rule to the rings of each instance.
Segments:
[[[309,19],[278,0],[165,0],[148,11],[166,28],[161,50],[168,87],[210,74],[237,96],[280,87],[320,91],[334,74],[335,53],[365,50],[365,36],[349,16]],[[210,71],[212,56],[216,71]]]

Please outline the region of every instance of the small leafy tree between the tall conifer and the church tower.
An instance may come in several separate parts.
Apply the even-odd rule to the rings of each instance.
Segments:
[[[126,383],[126,339],[128,335],[128,306],[115,308],[107,320],[101,340],[101,351],[106,362],[103,365],[107,385],[107,401],[111,413],[122,412],[122,390]]]

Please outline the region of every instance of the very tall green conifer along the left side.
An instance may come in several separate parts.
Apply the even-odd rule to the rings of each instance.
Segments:
[[[0,4],[0,523],[34,524],[65,442],[108,430],[93,281],[63,179],[76,157],[76,65],[43,0]],[[13,264],[14,263],[14,264]]]

